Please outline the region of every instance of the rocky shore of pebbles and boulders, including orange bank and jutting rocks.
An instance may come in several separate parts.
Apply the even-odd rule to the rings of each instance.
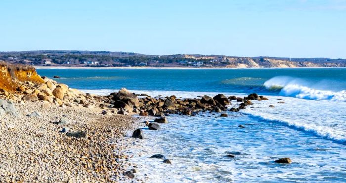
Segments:
[[[124,150],[145,139],[140,124],[160,130],[171,114],[238,112],[252,100],[268,100],[257,94],[150,97],[125,88],[96,96],[41,77],[31,67],[0,64],[0,70],[0,182],[129,181],[138,170]],[[237,106],[229,108],[232,101]],[[142,123],[133,114],[154,122]]]

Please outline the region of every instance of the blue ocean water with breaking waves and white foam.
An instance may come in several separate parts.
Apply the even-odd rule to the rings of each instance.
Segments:
[[[139,166],[137,176],[148,176],[148,182],[346,182],[346,68],[37,71],[100,95],[125,87],[152,97],[269,98],[253,101],[254,108],[227,111],[228,117],[171,115],[162,130],[144,129],[146,140],[129,153]],[[149,158],[158,153],[173,164]],[[293,162],[274,163],[282,157]]]

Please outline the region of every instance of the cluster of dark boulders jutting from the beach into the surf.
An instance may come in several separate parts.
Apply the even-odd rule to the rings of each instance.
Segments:
[[[141,95],[143,96],[143,95]],[[226,97],[218,94],[213,98],[210,96],[201,96],[194,99],[181,99],[176,96],[166,98],[150,97],[138,98],[136,94],[130,93],[126,88],[122,88],[117,93],[111,93],[102,97],[102,102],[106,104],[107,111],[119,114],[139,114],[141,116],[164,116],[167,114],[195,115],[198,112],[221,112],[228,110],[227,106],[231,101],[241,102],[237,108],[231,108],[230,111],[237,112],[243,110],[246,106],[253,105],[251,100],[268,100],[257,94],[250,94],[247,97],[240,98],[236,96]]]

